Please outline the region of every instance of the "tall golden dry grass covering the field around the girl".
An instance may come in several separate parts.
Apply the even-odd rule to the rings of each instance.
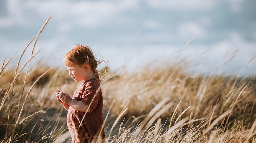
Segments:
[[[29,68],[39,51],[34,55],[32,52],[19,69],[20,59],[33,40],[21,53],[15,68],[5,69],[12,57],[6,63],[4,59],[1,66],[0,140],[70,142],[66,110],[54,94],[56,89],[61,89],[72,95],[78,83],[60,68],[42,66],[43,63]],[[182,60],[166,62],[164,66],[149,63],[133,73],[128,73],[125,67],[118,75],[108,71],[109,76],[101,85],[104,113],[107,113],[104,114],[105,141],[255,142],[256,78],[255,75],[240,77],[254,58],[236,76],[192,76]],[[23,71],[26,66],[27,71]],[[100,139],[95,137],[94,141]]]

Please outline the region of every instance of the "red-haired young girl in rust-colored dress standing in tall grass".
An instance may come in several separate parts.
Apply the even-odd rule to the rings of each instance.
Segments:
[[[82,44],[76,44],[71,51],[66,53],[64,63],[69,70],[69,75],[76,82],[83,81],[75,90],[72,98],[59,90],[56,92],[57,100],[68,111],[67,126],[73,143],[91,142],[98,136],[102,139],[101,142],[104,142],[101,89],[95,95],[102,82],[96,68],[102,61],[104,60],[96,61],[91,48]]]

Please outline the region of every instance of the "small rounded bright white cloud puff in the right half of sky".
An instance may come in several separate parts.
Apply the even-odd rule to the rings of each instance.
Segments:
[[[179,26],[178,33],[183,39],[190,39],[194,37],[196,39],[206,38],[207,32],[194,22],[186,22]]]

